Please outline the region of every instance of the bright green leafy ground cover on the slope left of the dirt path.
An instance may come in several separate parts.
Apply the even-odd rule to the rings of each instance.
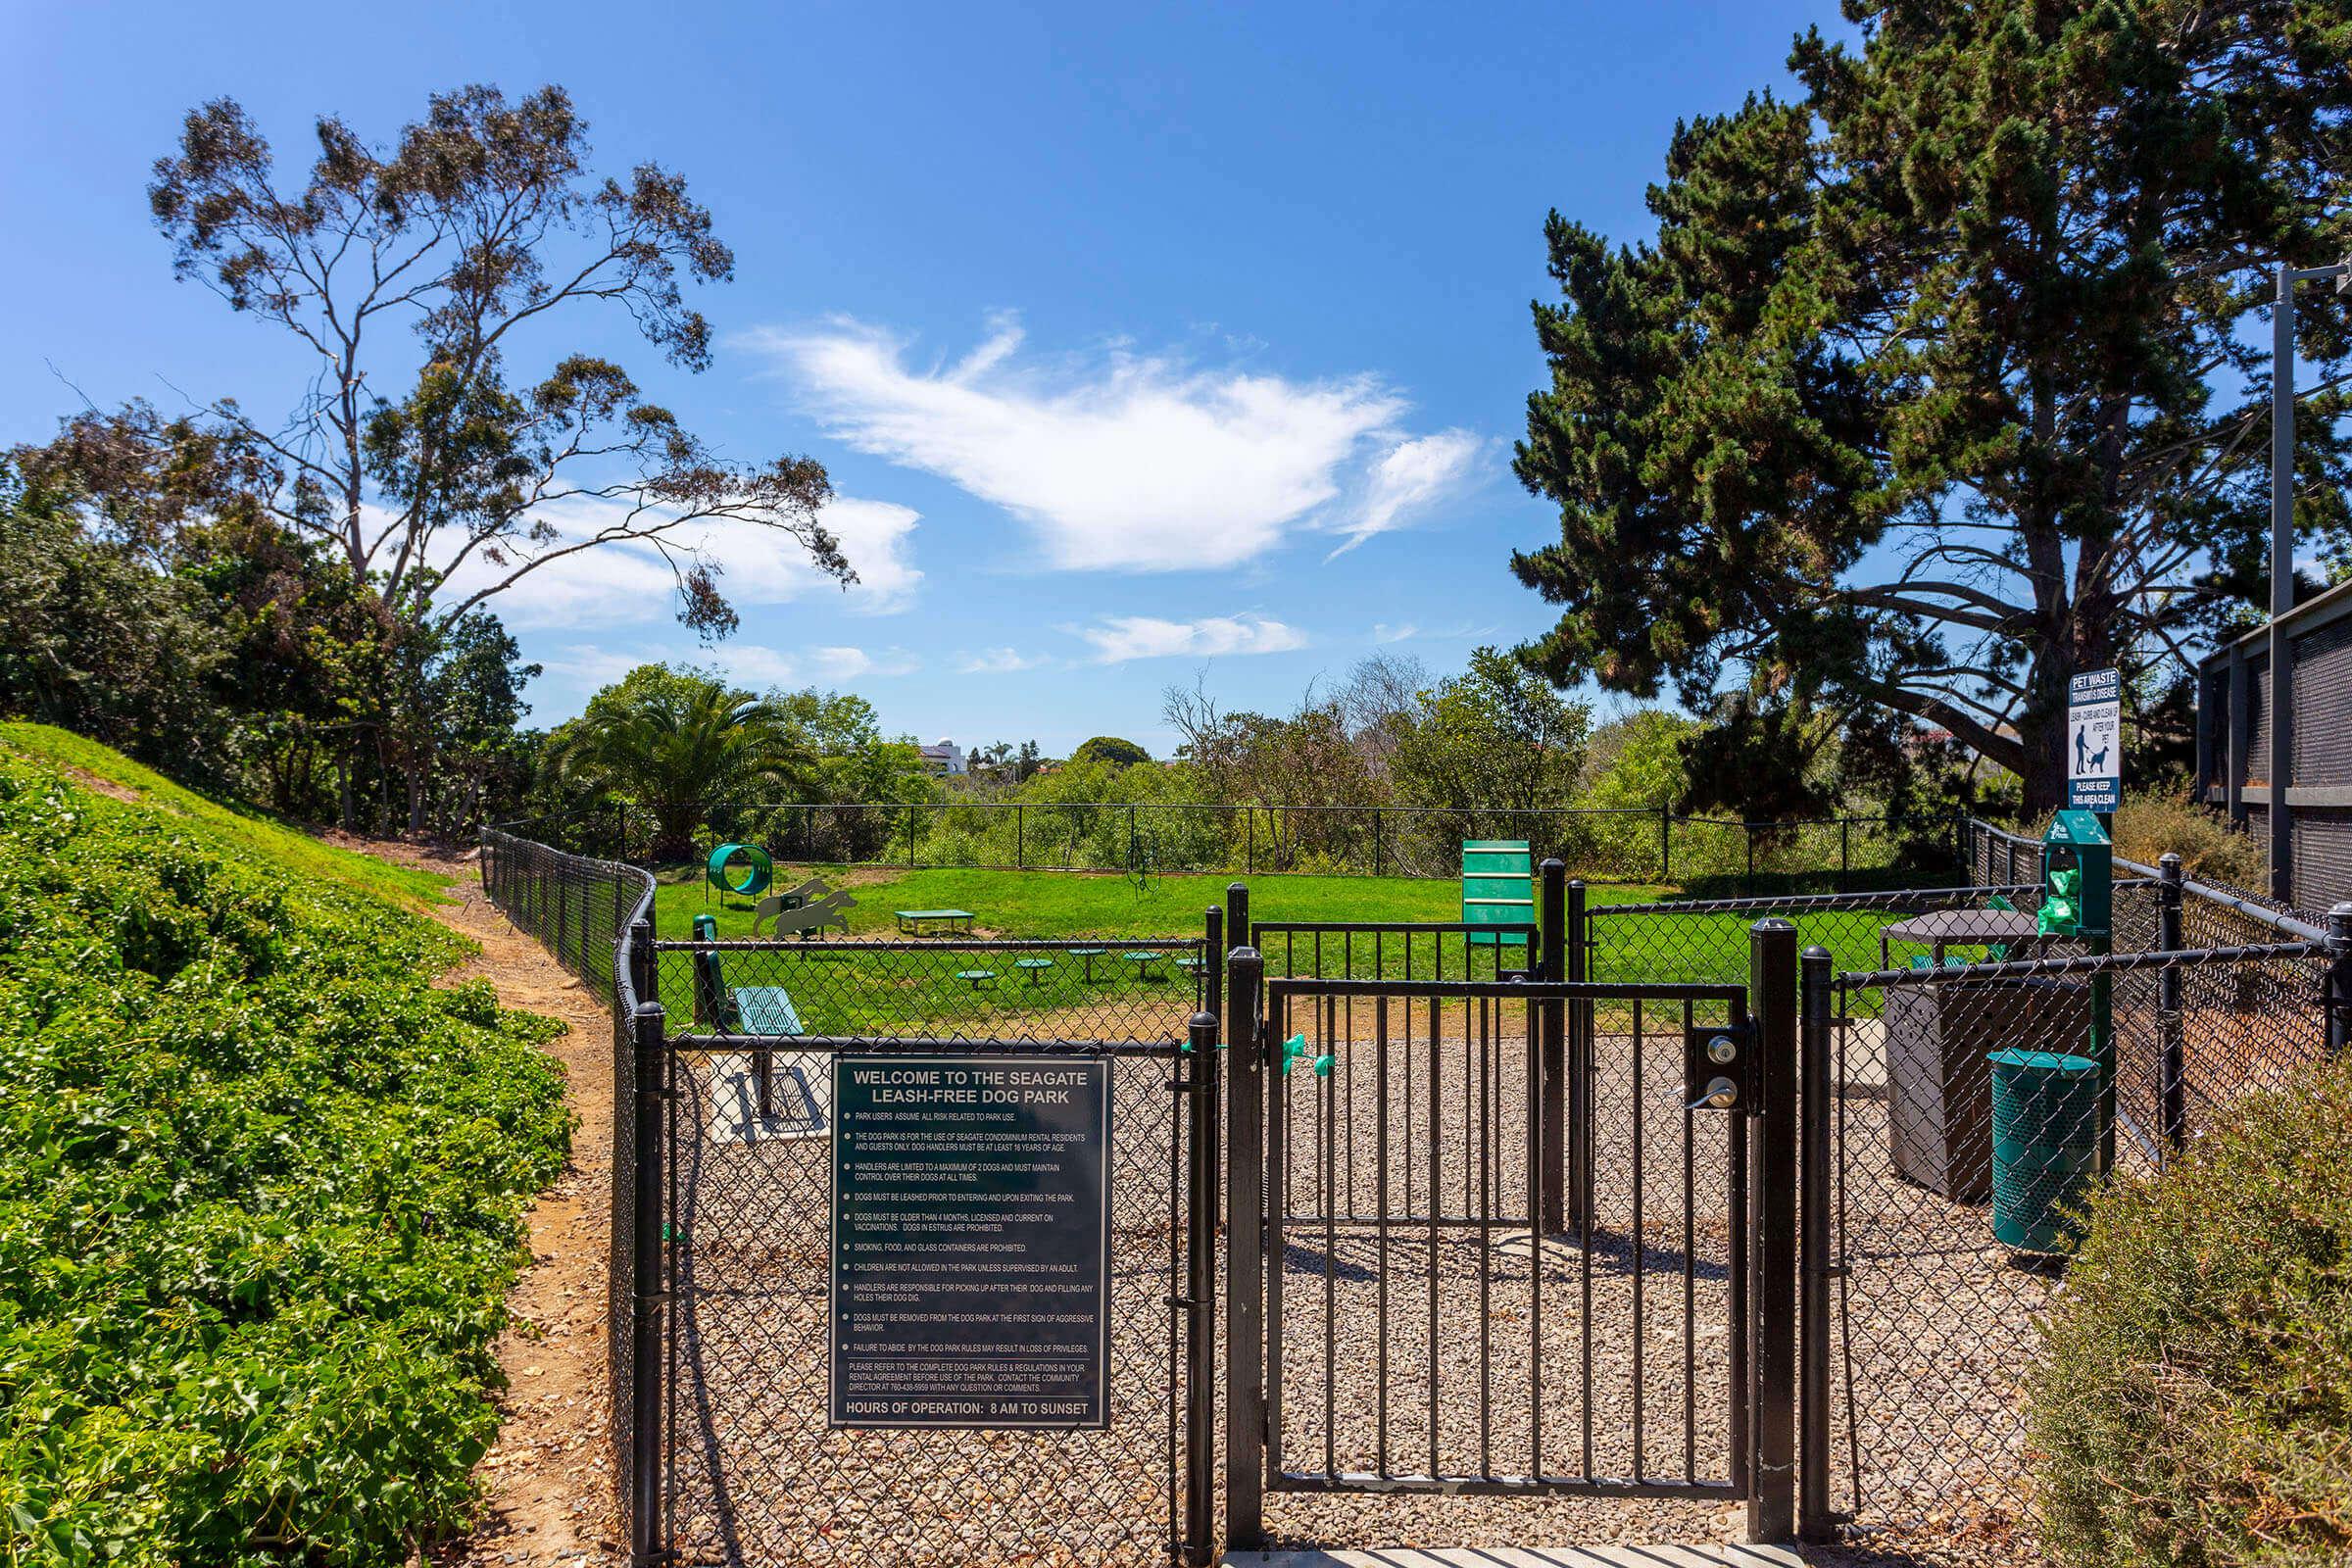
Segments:
[[[557,1027],[461,943],[0,752],[9,1563],[395,1563],[463,1523]]]

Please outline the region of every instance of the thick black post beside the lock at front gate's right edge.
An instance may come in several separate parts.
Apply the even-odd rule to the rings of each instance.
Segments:
[[[1748,929],[1757,1098],[1748,1117],[1748,1540],[1797,1533],[1797,926]]]

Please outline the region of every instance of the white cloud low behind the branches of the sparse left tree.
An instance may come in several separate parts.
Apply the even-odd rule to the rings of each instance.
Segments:
[[[593,536],[614,522],[616,505],[574,501],[541,508],[539,515],[557,534],[546,548],[560,550]],[[826,505],[823,524],[842,541],[842,555],[858,574],[847,590],[811,567],[793,538],[750,522],[689,524],[673,541],[706,550],[724,569],[722,592],[743,616],[743,630],[757,632],[762,609],[816,595],[840,595],[844,607],[866,614],[906,609],[922,583],[913,555],[917,522],[920,512],[889,501],[837,496]],[[473,592],[510,569],[473,555],[449,578],[445,597]],[[539,567],[489,599],[487,609],[510,630],[581,628],[670,616],[675,595],[677,576],[654,545],[616,541]]]

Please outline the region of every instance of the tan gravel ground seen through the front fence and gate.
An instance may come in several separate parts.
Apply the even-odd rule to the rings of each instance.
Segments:
[[[1571,1234],[1541,1251],[1524,1237],[1524,1018],[1465,1016],[1456,1004],[1432,1030],[1423,1009],[1406,1041],[1397,1009],[1385,1100],[1364,1004],[1355,1018],[1289,1023],[1308,1034],[1310,1058],[1329,1048],[1338,1060],[1331,1077],[1296,1067],[1270,1103],[1284,1128],[1289,1215],[1282,1465],[1376,1472],[1385,1458],[1390,1474],[1724,1479],[1729,1126],[1679,1110],[1682,1009],[1646,1016],[1639,1046],[1628,1016],[1602,1020],[1590,1248]],[[1860,1495],[1849,1479],[1849,1385],[1832,1363],[1835,1505],[1858,1514],[1844,1559],[2030,1559],[2016,1526],[2018,1413],[2004,1371],[2030,1347],[2051,1281],[2009,1267],[1983,1206],[1893,1178],[1867,1025],[1849,1034],[1846,1053],[1853,1274],[1844,1288]],[[814,1067],[809,1081],[823,1084]],[[1164,1305],[1181,1222],[1169,1199],[1167,1060],[1117,1070],[1115,1425],[1103,1434],[826,1432],[826,1107],[795,1117],[786,1077],[788,1114],[757,1124],[746,1117],[743,1072],[746,1058],[703,1058],[680,1100],[701,1126],[682,1140],[677,1171],[682,1561],[1152,1561],[1171,1528],[1171,1389],[1181,1387]],[[1628,1180],[1637,1128],[1639,1215]],[[1482,1161],[1482,1150],[1494,1157]],[[1442,1220],[1486,1227],[1432,1234],[1432,1185]],[[1327,1192],[1341,1201],[1327,1204]],[[1390,1215],[1385,1227],[1369,1222],[1378,1213]],[[1275,1544],[1656,1542],[1743,1528],[1740,1509],[1717,1495],[1275,1493],[1265,1519]]]

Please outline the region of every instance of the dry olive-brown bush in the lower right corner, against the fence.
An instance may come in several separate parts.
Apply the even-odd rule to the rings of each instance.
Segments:
[[[2027,1392],[2063,1561],[2352,1559],[2352,1063],[2098,1199]]]

